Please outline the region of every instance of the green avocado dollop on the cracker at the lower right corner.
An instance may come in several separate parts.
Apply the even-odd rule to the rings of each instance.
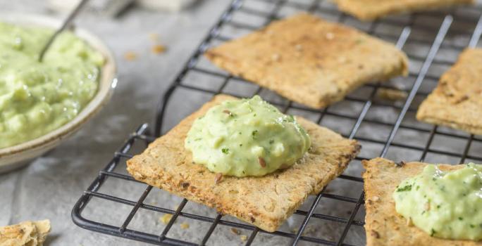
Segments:
[[[397,213],[436,238],[482,239],[482,165],[454,171],[427,165],[393,192]]]

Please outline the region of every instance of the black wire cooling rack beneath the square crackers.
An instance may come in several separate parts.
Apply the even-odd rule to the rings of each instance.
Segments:
[[[290,13],[307,11],[320,15],[328,20],[353,25],[365,32],[381,39],[391,41],[398,48],[404,50],[409,56],[410,72],[408,77],[393,79],[383,84],[373,83],[362,86],[354,93],[345,98],[345,101],[331,105],[323,110],[305,108],[297,103],[276,96],[275,93],[262,89],[259,86],[245,80],[228,75],[225,72],[209,65],[202,53],[210,46],[215,46],[222,41],[239,37],[241,34],[252,32],[272,20],[283,18]],[[156,123],[154,134],[149,134],[147,124],[142,124],[128,140],[114,154],[113,159],[99,172],[99,176],[85,190],[72,212],[72,218],[78,226],[100,233],[129,238],[155,245],[206,245],[213,243],[214,231],[218,226],[229,226],[250,231],[245,245],[252,245],[257,235],[266,234],[273,237],[283,237],[290,241],[290,245],[299,242],[307,242],[321,245],[362,245],[364,239],[350,240],[347,235],[352,228],[358,227],[362,231],[364,225],[364,194],[363,190],[356,190],[357,195],[347,196],[331,193],[330,184],[321,193],[309,199],[311,204],[308,209],[299,209],[293,216],[301,216],[302,223],[295,231],[266,232],[241,221],[225,219],[223,214],[205,216],[183,212],[187,200],[182,200],[176,209],[167,208],[163,205],[149,205],[144,200],[152,192],[152,186],[144,185],[145,189],[137,200],[128,200],[119,195],[102,193],[99,191],[108,179],[118,179],[122,186],[130,186],[131,183],[140,183],[132,179],[128,174],[116,171],[119,163],[125,162],[132,155],[142,152],[155,136],[160,136],[168,127],[163,127],[169,118],[183,117],[194,111],[198,105],[190,105],[190,98],[194,93],[202,94],[205,101],[217,93],[228,93],[237,97],[253,96],[262,94],[273,105],[278,106],[283,112],[303,115],[313,119],[319,124],[340,132],[347,138],[357,139],[364,146],[359,157],[350,167],[359,166],[359,161],[373,157],[390,157],[393,160],[420,160],[437,162],[443,158],[445,162],[482,162],[482,138],[465,134],[445,127],[436,127],[416,122],[414,113],[421,100],[437,84],[438,77],[455,63],[457,55],[467,46],[477,46],[482,32],[482,6],[459,6],[447,11],[417,13],[383,18],[374,22],[359,22],[356,19],[340,13],[329,1],[319,0],[235,0],[221,15],[209,34],[196,49],[183,70],[163,95],[158,110],[156,111]],[[256,20],[256,21],[255,21]],[[190,83],[190,76],[196,75],[197,79]],[[206,83],[199,77],[205,77]],[[386,101],[378,98],[377,91],[382,89],[397,89],[404,91],[406,99],[402,101]],[[183,93],[177,92],[183,91]],[[187,95],[187,96],[186,96]],[[180,101],[187,102],[189,109],[183,112],[169,113],[169,105],[178,97]],[[203,99],[204,100],[204,99]],[[197,104],[202,104],[199,102]],[[386,112],[380,116],[380,111]],[[378,112],[378,116],[377,116]],[[170,115],[164,117],[164,115]],[[375,116],[374,116],[375,115]],[[385,117],[386,116],[386,117]],[[171,123],[172,124],[172,123]],[[364,151],[368,148],[367,151]],[[440,162],[439,162],[440,163]],[[349,169],[350,169],[349,167]],[[352,171],[353,173],[353,171]],[[335,181],[344,181],[358,185],[363,179],[356,169],[356,174],[345,171]],[[335,182],[333,181],[333,182]],[[352,184],[348,185],[349,187]],[[360,186],[360,185],[359,185]],[[157,189],[157,188],[154,188]],[[87,207],[101,209],[91,205],[92,198],[108,200],[118,206],[130,206],[130,213],[125,218],[118,218],[116,224],[104,224],[99,218],[87,219],[82,212]],[[316,207],[325,200],[335,202],[335,206],[350,208],[346,216],[332,215],[328,212],[317,212]],[[348,206],[349,204],[350,206]],[[147,232],[147,228],[132,229],[129,225],[132,218],[140,210],[148,210],[159,214],[172,214],[163,231],[156,233]],[[359,216],[357,216],[357,214]],[[361,216],[360,216],[361,215]],[[209,223],[209,229],[199,242],[168,236],[173,228],[175,220],[179,217],[194,219]],[[357,219],[361,218],[361,219]],[[340,232],[336,236],[305,235],[310,221],[330,221],[335,224]],[[361,228],[361,229],[360,229]],[[213,235],[213,236],[211,236]]]

